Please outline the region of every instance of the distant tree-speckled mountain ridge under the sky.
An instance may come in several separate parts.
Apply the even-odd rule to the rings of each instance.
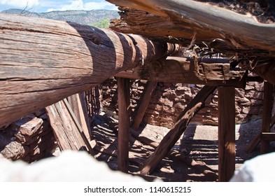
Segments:
[[[9,9],[3,10],[1,13],[9,13],[15,15],[25,15],[34,18],[48,18],[52,20],[63,20],[76,22],[81,25],[91,25],[104,19],[119,18],[118,11],[115,10],[67,10],[52,11],[48,13],[33,13],[27,10]]]

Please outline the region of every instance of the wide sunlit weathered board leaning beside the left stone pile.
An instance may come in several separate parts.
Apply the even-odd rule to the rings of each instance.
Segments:
[[[74,116],[66,99],[45,108],[55,139],[62,151],[85,150],[93,154],[92,147]]]

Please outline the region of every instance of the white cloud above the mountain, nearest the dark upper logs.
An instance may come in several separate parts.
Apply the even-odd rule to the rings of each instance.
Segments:
[[[99,1],[99,2],[87,2],[83,3],[83,0],[72,0],[69,4],[60,5],[59,8],[49,8],[47,11],[53,10],[100,10],[107,9],[108,10],[117,10],[117,8],[108,3],[107,1]]]

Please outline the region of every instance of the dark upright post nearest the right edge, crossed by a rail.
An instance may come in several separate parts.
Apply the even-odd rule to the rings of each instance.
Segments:
[[[265,82],[264,85],[264,109],[262,112],[262,132],[270,132],[272,123],[272,90],[273,85]],[[269,141],[261,139],[260,153],[264,154],[269,151]]]

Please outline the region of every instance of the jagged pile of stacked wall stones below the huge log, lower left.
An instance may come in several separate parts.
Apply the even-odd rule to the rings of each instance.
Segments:
[[[0,129],[0,153],[9,160],[34,162],[51,155],[55,138],[45,110]]]

